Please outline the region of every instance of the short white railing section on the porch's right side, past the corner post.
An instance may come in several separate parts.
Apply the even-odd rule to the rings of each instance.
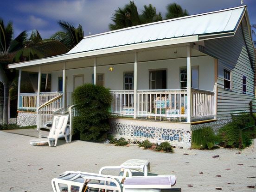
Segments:
[[[214,92],[192,88],[192,121],[216,119]]]

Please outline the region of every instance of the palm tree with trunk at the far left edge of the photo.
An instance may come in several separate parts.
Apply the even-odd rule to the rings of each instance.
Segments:
[[[13,39],[12,22],[5,25],[3,19],[0,18],[0,82],[2,84],[1,93],[3,92],[3,103],[0,103],[3,110],[0,112],[0,124],[8,123],[8,82],[13,78],[13,73],[6,70],[6,65],[12,62],[16,51],[22,48],[25,39],[26,31]]]

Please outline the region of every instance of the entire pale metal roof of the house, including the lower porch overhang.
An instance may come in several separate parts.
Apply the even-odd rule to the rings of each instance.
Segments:
[[[102,54],[234,36],[245,12],[246,6],[239,6],[86,36],[66,54],[14,63],[8,68],[60,63]]]

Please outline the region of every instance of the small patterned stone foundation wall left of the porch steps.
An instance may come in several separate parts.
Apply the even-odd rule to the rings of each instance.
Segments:
[[[35,126],[37,125],[37,114],[29,112],[18,112],[17,115],[18,126]]]

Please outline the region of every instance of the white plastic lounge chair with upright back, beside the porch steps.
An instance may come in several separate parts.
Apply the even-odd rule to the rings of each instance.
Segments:
[[[45,126],[39,128],[38,140],[30,141],[31,145],[49,144],[50,147],[56,146],[58,138],[65,138],[67,143],[71,142],[72,130],[68,124],[70,120],[70,112],[64,108],[53,114],[52,122],[47,122]],[[40,131],[49,131],[48,135],[41,135]]]

